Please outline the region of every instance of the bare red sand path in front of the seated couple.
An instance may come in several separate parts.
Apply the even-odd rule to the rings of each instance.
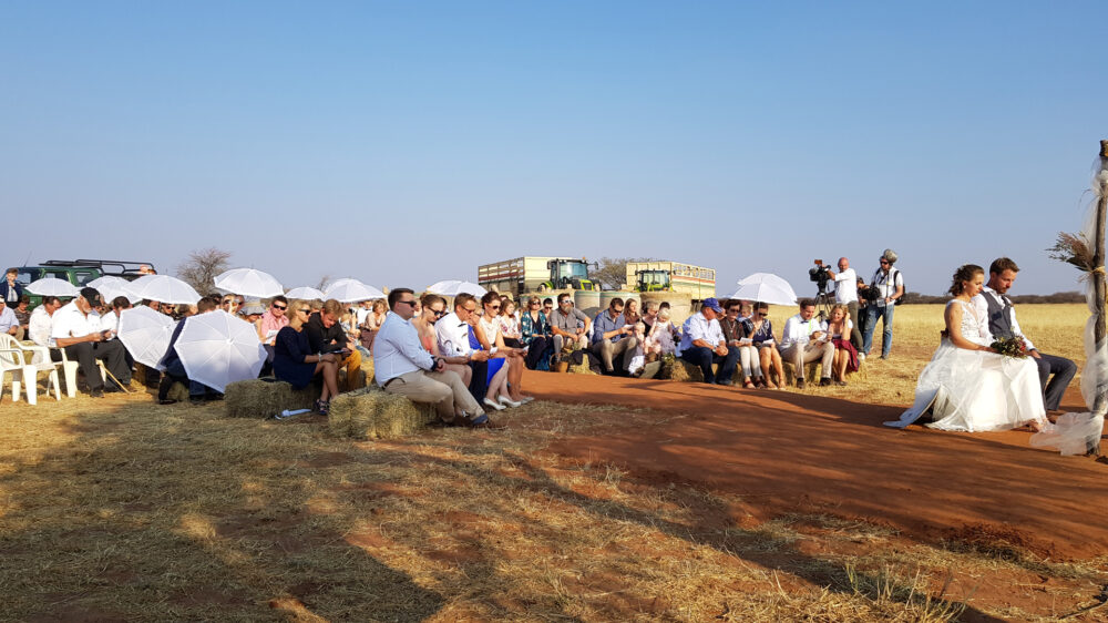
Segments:
[[[626,427],[618,411],[597,411],[601,433],[550,450],[737,493],[740,523],[820,512],[929,541],[993,534],[1056,560],[1108,554],[1108,464],[1033,449],[1026,431],[896,430],[881,422],[903,407],[702,384],[527,372],[524,386],[540,399],[657,412]],[[1084,410],[1073,390],[1064,406]]]

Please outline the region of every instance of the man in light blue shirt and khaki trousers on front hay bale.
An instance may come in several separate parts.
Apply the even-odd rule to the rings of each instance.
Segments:
[[[420,343],[419,333],[411,324],[416,315],[412,290],[392,289],[389,307],[391,310],[373,339],[373,374],[381,389],[412,402],[434,405],[443,422],[453,423],[455,419],[461,419],[473,427],[493,427],[461,377],[444,369],[444,361],[432,357]]]

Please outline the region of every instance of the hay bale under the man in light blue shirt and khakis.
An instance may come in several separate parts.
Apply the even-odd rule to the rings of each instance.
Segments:
[[[331,400],[328,428],[338,437],[392,439],[420,431],[439,418],[434,407],[373,387]]]

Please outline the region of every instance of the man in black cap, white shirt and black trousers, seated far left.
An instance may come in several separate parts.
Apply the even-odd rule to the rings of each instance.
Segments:
[[[50,328],[54,344],[65,350],[68,358],[76,359],[93,398],[102,398],[105,389],[98,360],[103,361],[107,371],[121,384],[110,384],[107,391],[119,391],[122,386],[131,384],[123,345],[112,339],[115,336],[111,331],[100,328],[100,316],[93,312],[103,302],[95,288],[81,288],[76,298],[54,313]]]

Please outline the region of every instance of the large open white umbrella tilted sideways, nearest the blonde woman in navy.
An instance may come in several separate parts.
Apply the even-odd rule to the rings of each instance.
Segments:
[[[222,309],[183,321],[174,348],[191,380],[224,391],[236,380],[258,378],[266,349],[254,325]]]

